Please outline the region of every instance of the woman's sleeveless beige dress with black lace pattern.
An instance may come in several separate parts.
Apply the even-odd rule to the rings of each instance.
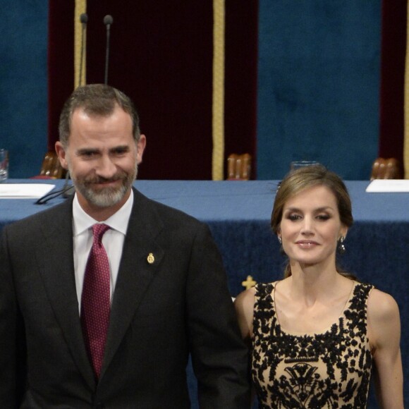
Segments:
[[[261,409],[366,408],[372,355],[367,299],[373,286],[354,283],[338,322],[322,334],[283,331],[275,283],[256,286],[252,381]]]

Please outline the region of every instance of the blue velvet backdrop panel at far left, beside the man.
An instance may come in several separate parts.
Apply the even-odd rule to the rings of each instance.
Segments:
[[[0,148],[10,176],[37,175],[47,152],[47,0],[0,0]]]

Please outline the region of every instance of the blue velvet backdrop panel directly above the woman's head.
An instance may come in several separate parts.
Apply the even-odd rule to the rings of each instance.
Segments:
[[[368,179],[379,138],[381,0],[261,0],[257,178],[316,160]]]

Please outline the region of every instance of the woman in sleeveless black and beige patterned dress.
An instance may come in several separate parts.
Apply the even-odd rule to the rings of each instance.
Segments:
[[[365,408],[372,362],[382,408],[403,408],[395,300],[336,264],[353,224],[343,181],[324,166],[284,178],[271,227],[288,256],[284,279],[236,298],[260,408]]]

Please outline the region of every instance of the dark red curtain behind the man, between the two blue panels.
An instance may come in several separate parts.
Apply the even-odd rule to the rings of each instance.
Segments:
[[[49,145],[73,90],[73,1],[49,1]],[[212,1],[87,1],[87,83],[108,83],[141,118],[145,179],[212,178]],[[225,155],[255,156],[257,1],[226,0]],[[226,160],[225,160],[226,162]],[[255,169],[255,166],[253,166]]]

